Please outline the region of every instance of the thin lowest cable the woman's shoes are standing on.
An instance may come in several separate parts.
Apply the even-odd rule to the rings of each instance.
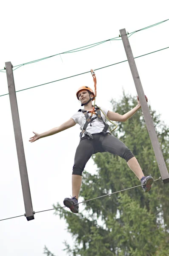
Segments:
[[[159,177],[158,179],[154,180],[154,182],[157,181],[157,180],[162,180],[162,178]],[[133,187],[128,188],[128,189],[122,189],[122,190],[119,190],[119,191],[116,191],[116,192],[113,192],[113,193],[110,193],[110,194],[107,194],[107,195],[101,195],[101,196],[98,196],[98,197],[96,197],[96,198],[88,199],[88,200],[82,201],[82,202],[77,203],[77,204],[86,203],[86,202],[92,201],[92,200],[94,200],[94,199],[103,198],[103,197],[108,196],[108,195],[117,194],[117,193],[119,193],[119,192],[123,192],[123,191],[129,190],[129,189],[134,189],[134,188],[137,188],[137,187],[139,187],[139,186],[142,186],[142,185],[140,184],[140,185],[133,186]],[[76,205],[76,204],[74,204],[74,205]],[[65,208],[65,207],[66,207],[66,206],[57,207],[57,208],[52,208],[52,209],[47,209],[47,210],[43,210],[43,211],[38,211],[38,212],[34,212],[34,214],[35,214],[35,213],[39,213],[39,212],[47,212],[47,211],[51,211],[51,210],[62,209],[62,208]],[[25,216],[25,214],[24,214],[24,215],[20,215],[20,216],[16,216],[16,217],[11,217],[11,218],[17,218],[17,217],[21,217],[21,216]],[[5,218],[5,219],[2,219],[2,220],[0,220],[0,221],[9,220],[9,219],[11,219],[11,218]]]

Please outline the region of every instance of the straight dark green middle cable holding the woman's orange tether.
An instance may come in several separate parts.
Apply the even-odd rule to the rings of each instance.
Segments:
[[[146,54],[137,56],[137,57],[135,57],[135,58],[140,58],[140,57],[149,55],[149,54],[151,54],[151,53],[159,52],[159,51],[162,51],[162,50],[165,50],[165,49],[168,49],[168,48],[169,48],[169,47],[166,47],[166,48],[163,48],[163,49],[154,51],[154,52],[149,52],[149,53],[146,53]],[[128,61],[128,60],[120,61],[120,62],[117,62],[117,63],[114,63],[114,64],[110,64],[110,65],[105,66],[105,67],[99,67],[99,68],[95,69],[95,71],[96,71],[96,70],[103,69],[103,68],[106,68],[106,67],[111,67],[111,66],[114,66],[114,65],[117,65],[117,64],[126,62],[126,61]],[[72,78],[72,77],[74,77],[74,76],[80,76],[80,75],[87,74],[87,73],[90,73],[90,71],[83,72],[83,73],[80,73],[80,74],[77,74],[77,75],[73,75],[73,76],[68,76],[68,77],[65,77],[65,78],[61,78],[61,79],[58,79],[58,80],[55,80],[55,81],[51,81],[51,82],[48,82],[48,83],[45,83],[45,84],[51,84],[51,83],[54,83],[54,82],[58,82],[58,81],[61,81],[61,80],[64,80],[64,79]],[[39,84],[39,85],[35,85],[35,86],[29,87],[29,88],[25,88],[25,89],[22,89],[22,90],[17,90],[16,93],[21,92],[21,91],[23,91],[23,90],[28,90],[28,89],[32,89],[32,88],[35,88],[35,87],[39,87],[39,86],[42,86],[42,85],[45,85],[45,84]],[[2,94],[2,95],[0,95],[0,97],[5,96],[5,95],[9,95],[9,93]]]

